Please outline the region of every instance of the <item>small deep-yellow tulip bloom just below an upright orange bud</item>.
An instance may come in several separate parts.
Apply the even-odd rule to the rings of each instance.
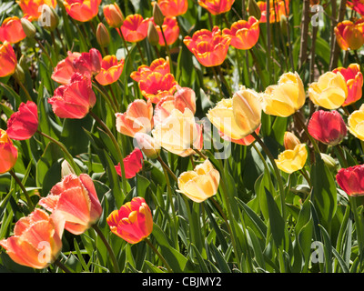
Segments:
[[[306,145],[299,144],[294,149],[287,149],[280,153],[275,161],[280,170],[292,174],[305,166],[307,157]]]

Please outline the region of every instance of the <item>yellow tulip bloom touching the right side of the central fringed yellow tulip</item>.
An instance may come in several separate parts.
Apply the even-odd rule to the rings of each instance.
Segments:
[[[306,101],[305,89],[298,73],[280,76],[278,85],[269,85],[261,95],[263,111],[268,115],[293,115]]]

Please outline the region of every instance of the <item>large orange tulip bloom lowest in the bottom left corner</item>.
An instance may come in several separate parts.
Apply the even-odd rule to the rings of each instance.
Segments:
[[[44,210],[35,208],[15,223],[14,235],[0,240],[0,246],[15,263],[43,269],[61,252],[64,224],[62,216],[48,216]]]

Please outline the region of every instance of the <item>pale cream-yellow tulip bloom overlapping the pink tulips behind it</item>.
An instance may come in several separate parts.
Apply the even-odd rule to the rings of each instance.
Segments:
[[[202,148],[202,128],[188,108],[183,113],[173,109],[163,124],[155,126],[152,135],[158,145],[177,156],[190,156],[193,148]]]

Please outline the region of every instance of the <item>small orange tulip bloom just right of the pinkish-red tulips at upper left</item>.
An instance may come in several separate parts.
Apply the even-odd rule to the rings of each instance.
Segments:
[[[116,55],[106,55],[101,62],[101,71],[95,78],[101,85],[109,85],[118,80],[124,68],[124,59],[117,61]]]

